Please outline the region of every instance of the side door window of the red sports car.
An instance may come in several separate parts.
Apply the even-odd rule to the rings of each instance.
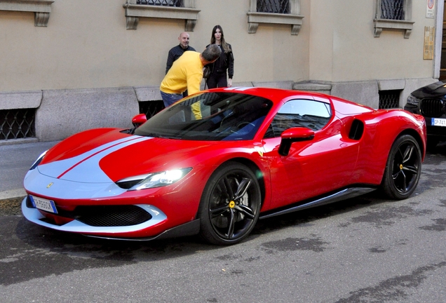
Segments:
[[[284,130],[295,127],[320,130],[330,121],[330,117],[330,105],[325,102],[290,100],[278,110],[265,137],[280,137]]]

